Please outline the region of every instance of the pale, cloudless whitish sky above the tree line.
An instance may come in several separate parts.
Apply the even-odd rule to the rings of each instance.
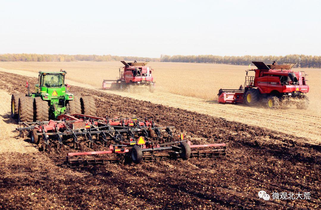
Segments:
[[[321,55],[321,1],[0,1],[0,54]]]

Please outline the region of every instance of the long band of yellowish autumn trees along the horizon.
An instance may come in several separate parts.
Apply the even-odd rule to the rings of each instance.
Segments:
[[[154,62],[182,62],[182,63],[216,63],[232,65],[248,65],[252,61],[262,61],[279,64],[284,62],[298,63],[296,68],[321,68],[321,56],[285,55],[285,56],[219,56],[219,55],[161,55],[160,58],[116,56],[116,55],[49,55],[49,54],[0,54],[0,61],[21,62],[71,62],[71,61],[154,61]]]

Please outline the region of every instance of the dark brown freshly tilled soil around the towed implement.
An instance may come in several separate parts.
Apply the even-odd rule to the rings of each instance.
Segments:
[[[9,93],[25,92],[22,83],[26,80],[30,86],[36,83],[35,78],[0,72],[0,88]],[[153,117],[158,125],[172,125],[184,132],[193,144],[225,142],[227,157],[76,170],[67,168],[65,153],[57,151],[4,153],[0,159],[0,207],[320,208],[319,145],[301,143],[305,139],[291,134],[91,89],[72,87],[71,91],[93,96],[99,116]],[[311,199],[265,201],[257,196],[260,190],[271,198],[273,192],[310,192]]]

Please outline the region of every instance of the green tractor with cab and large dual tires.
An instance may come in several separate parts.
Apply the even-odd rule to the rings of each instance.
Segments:
[[[34,92],[14,93],[11,97],[11,117],[19,122],[36,122],[56,119],[61,114],[86,114],[96,116],[95,100],[91,96],[69,93],[65,74],[39,71]]]

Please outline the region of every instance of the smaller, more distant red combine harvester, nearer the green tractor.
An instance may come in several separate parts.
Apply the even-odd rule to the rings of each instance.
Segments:
[[[119,68],[119,78],[116,80],[104,80],[102,89],[127,89],[132,91],[134,86],[148,86],[150,92],[154,92],[155,83],[152,76],[152,67],[147,67],[145,62],[121,61],[125,66]],[[123,69],[123,71],[121,71]]]

